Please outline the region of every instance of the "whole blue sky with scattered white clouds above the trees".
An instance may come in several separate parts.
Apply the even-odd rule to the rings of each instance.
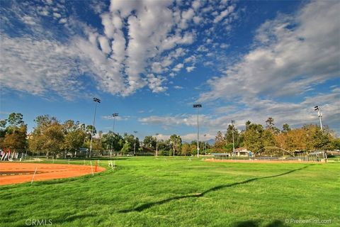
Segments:
[[[1,1],[0,117],[205,140],[268,117],[340,133],[339,1]],[[203,136],[202,136],[203,137]]]

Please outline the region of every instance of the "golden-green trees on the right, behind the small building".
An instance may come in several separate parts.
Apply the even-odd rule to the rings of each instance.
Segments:
[[[277,128],[273,118],[266,120],[266,126],[246,121],[246,128],[238,131],[234,125],[229,125],[223,135],[217,132],[215,137],[215,152],[232,152],[232,134],[234,133],[234,148],[244,147],[256,152],[266,147],[278,147],[288,151],[312,151],[312,150],[339,150],[340,138],[324,126],[321,128],[314,124],[307,124],[301,128],[290,128],[285,123],[282,130]]]

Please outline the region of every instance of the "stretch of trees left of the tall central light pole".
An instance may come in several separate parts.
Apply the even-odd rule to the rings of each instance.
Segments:
[[[12,113],[0,121],[0,148],[10,148],[16,152],[45,154],[65,157],[67,154],[77,155],[80,148],[90,148],[94,155],[108,153],[155,154],[158,155],[191,155],[196,146],[183,144],[180,135],[171,135],[168,140],[157,140],[147,135],[140,141],[135,135],[124,133],[103,133],[96,131],[91,125],[79,121],[67,120],[63,123],[54,116],[42,115],[35,118],[35,127],[27,133],[27,125],[23,114]],[[93,133],[92,133],[93,131]],[[95,136],[96,135],[96,136]],[[196,143],[193,141],[193,143]],[[200,146],[203,144],[200,143]],[[87,156],[87,155],[86,155]]]

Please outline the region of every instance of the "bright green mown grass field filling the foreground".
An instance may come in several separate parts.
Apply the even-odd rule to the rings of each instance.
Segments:
[[[192,160],[121,158],[115,171],[94,177],[0,187],[0,225],[340,226],[338,162]]]

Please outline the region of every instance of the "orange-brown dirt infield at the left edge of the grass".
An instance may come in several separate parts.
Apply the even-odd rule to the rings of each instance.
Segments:
[[[38,168],[35,173],[34,181],[77,177],[92,173],[91,165],[1,162],[0,185],[30,182],[36,167]],[[92,168],[95,172],[95,167]],[[102,172],[103,170],[106,169],[104,167],[97,167],[97,172]]]

